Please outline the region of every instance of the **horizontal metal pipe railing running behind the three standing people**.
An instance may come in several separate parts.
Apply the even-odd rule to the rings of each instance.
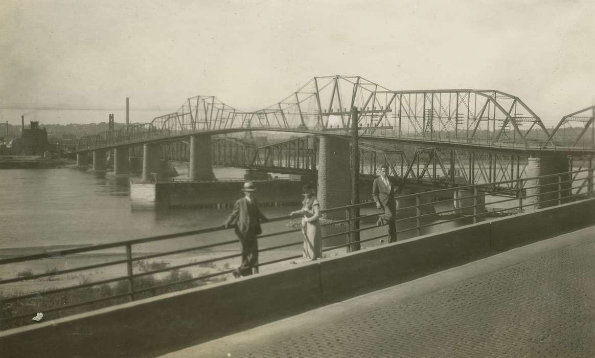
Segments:
[[[585,175],[587,175],[587,176],[585,178],[578,178],[578,174],[580,174],[580,173],[585,173]],[[530,182],[530,180],[533,180],[534,182],[536,182],[537,185],[531,185],[531,186],[527,185],[527,183]],[[593,196],[593,169],[575,170],[575,171],[568,172],[568,173],[537,176],[534,178],[502,180],[497,183],[491,183],[490,185],[502,185],[502,184],[516,185],[516,189],[503,189],[500,192],[481,192],[480,189],[485,188],[486,185],[476,184],[476,185],[459,186],[459,187],[455,187],[455,188],[436,189],[433,191],[427,191],[427,192],[421,192],[421,193],[415,193],[415,194],[401,195],[397,198],[397,200],[412,201],[415,204],[411,205],[411,206],[407,206],[407,207],[396,208],[396,211],[397,211],[397,218],[395,219],[396,223],[405,223],[405,222],[412,223],[411,227],[402,228],[402,229],[397,230],[397,234],[400,234],[403,232],[415,231],[417,235],[421,235],[423,229],[430,228],[430,227],[436,226],[436,225],[442,225],[444,223],[455,222],[457,220],[461,220],[464,222],[466,222],[466,220],[471,220],[472,222],[475,223],[475,222],[478,222],[478,220],[480,220],[480,219],[485,219],[485,217],[487,217],[490,214],[499,213],[499,212],[505,211],[505,210],[508,210],[508,211],[518,210],[518,213],[522,213],[527,207],[559,205],[559,204],[565,203],[567,201],[571,201],[573,199],[582,198],[582,197],[578,197],[577,195],[583,188],[585,188],[585,186],[587,186],[587,190],[586,190],[587,194],[585,194],[584,197],[591,197],[591,196]],[[526,193],[527,193],[528,189],[529,190],[536,189],[537,193],[527,195]],[[543,189],[543,190],[539,191],[539,189]],[[575,189],[577,189],[577,193],[573,194],[572,192]],[[455,190],[467,191],[467,192],[470,192],[471,195],[469,195],[468,197],[452,199],[452,200],[439,200],[436,203],[445,204],[445,203],[448,203],[449,201],[452,201],[453,203],[456,201],[459,201],[460,203],[465,202],[466,203],[465,205],[458,206],[458,207],[452,208],[450,210],[439,210],[439,211],[434,210],[433,213],[422,213],[422,208],[428,207],[428,206],[433,206],[434,204],[436,204],[436,203],[423,203],[422,198],[431,197],[431,196],[439,197],[440,195],[438,195],[438,194],[440,194],[441,192],[442,193],[443,192],[452,192]],[[523,194],[523,192],[525,192],[525,194]],[[505,200],[492,201],[491,203],[485,203],[486,197],[497,195],[499,193],[500,194],[506,193],[508,195],[513,193],[513,194],[516,194],[516,197],[506,198]],[[527,203],[526,200],[529,198],[534,198],[535,200],[533,200],[531,203]],[[483,207],[485,207],[486,205],[502,204],[502,203],[509,203],[509,202],[514,202],[514,201],[518,201],[516,206],[499,208],[499,209],[490,210],[490,211],[483,209]],[[361,228],[355,228],[355,225],[353,225],[353,223],[355,223],[355,222],[359,223],[359,222],[362,222],[362,220],[373,219],[373,218],[376,218],[376,217],[380,216],[381,214],[383,214],[381,212],[376,211],[375,213],[371,213],[371,214],[366,213],[366,214],[361,214],[358,216],[353,216],[352,209],[354,209],[354,208],[357,208],[357,209],[369,208],[370,210],[376,210],[375,207],[372,206],[372,204],[374,204],[374,202],[370,201],[368,203],[353,204],[353,205],[347,205],[347,206],[322,210],[321,213],[323,214],[323,216],[324,216],[324,214],[327,214],[327,213],[341,212],[341,213],[345,213],[345,217],[346,217],[346,219],[330,220],[329,222],[322,223],[322,225],[321,225],[322,227],[330,227],[330,226],[345,227],[344,231],[334,232],[334,233],[322,236],[323,242],[328,241],[328,239],[337,238],[340,236],[343,236],[346,238],[345,244],[334,245],[331,247],[325,247],[323,251],[326,253],[329,251],[338,250],[340,248],[346,248],[346,251],[350,252],[353,250],[354,247],[358,247],[358,245],[360,245],[364,242],[370,242],[370,241],[374,241],[379,238],[386,237],[387,235],[383,234],[383,235],[372,235],[371,238],[362,238],[362,239],[359,239],[358,241],[353,240],[353,237],[355,237],[356,235],[359,235],[362,232],[372,231],[377,228],[377,226],[375,226],[374,224],[362,226]],[[407,211],[415,211],[415,214],[406,216]],[[405,213],[405,214],[403,214],[403,213]],[[456,217],[454,217],[454,218],[450,217],[449,219],[435,220],[437,216],[438,217],[440,216],[440,214],[447,214],[447,213],[455,214]],[[270,219],[269,221],[277,222],[277,221],[288,220],[288,219],[290,219],[290,216],[281,216],[281,217],[275,217],[273,219]],[[21,281],[27,281],[27,280],[33,280],[33,279],[39,279],[39,278],[47,278],[50,276],[66,275],[68,273],[98,269],[98,268],[107,267],[107,266],[115,266],[115,265],[125,265],[126,266],[126,275],[124,275],[124,276],[117,276],[115,278],[108,278],[108,279],[103,279],[101,281],[95,281],[95,282],[83,282],[82,284],[79,284],[79,285],[73,285],[70,287],[53,288],[53,289],[48,289],[46,291],[39,291],[39,292],[35,292],[35,293],[13,295],[13,296],[9,296],[9,297],[0,297],[0,304],[9,304],[9,303],[16,304],[16,303],[19,303],[20,301],[24,301],[24,300],[39,300],[42,297],[48,297],[48,296],[55,295],[55,294],[64,294],[65,292],[73,292],[73,291],[76,291],[79,289],[97,287],[99,285],[110,285],[110,284],[115,284],[115,283],[121,282],[121,281],[126,282],[126,292],[121,292],[121,293],[117,293],[117,294],[113,294],[113,295],[107,295],[106,297],[100,297],[100,298],[96,298],[93,300],[83,300],[83,301],[76,302],[76,303],[62,304],[62,305],[56,306],[56,307],[36,307],[35,312],[33,312],[33,311],[27,312],[27,313],[15,312],[14,315],[0,317],[0,323],[24,319],[25,317],[30,317],[32,315],[35,315],[36,312],[55,312],[55,311],[60,311],[60,310],[74,309],[76,307],[89,306],[91,304],[102,303],[104,301],[109,301],[109,300],[117,300],[119,298],[124,298],[124,297],[127,297],[128,300],[136,300],[138,297],[142,296],[143,294],[147,294],[147,293],[151,293],[151,292],[157,293],[160,289],[172,288],[175,286],[185,287],[184,286],[185,284],[190,284],[191,282],[196,282],[196,281],[201,281],[201,280],[206,281],[208,279],[216,278],[217,276],[228,275],[232,270],[226,269],[226,270],[222,270],[220,272],[208,273],[208,274],[197,276],[197,277],[184,278],[184,279],[180,279],[179,281],[168,282],[165,284],[158,284],[158,285],[154,285],[151,287],[138,287],[138,284],[137,284],[137,279],[139,279],[139,278],[143,278],[143,277],[146,277],[149,275],[155,275],[157,273],[177,272],[177,270],[184,269],[187,267],[201,266],[201,265],[205,265],[205,264],[221,262],[223,260],[235,259],[236,257],[241,256],[240,253],[224,254],[223,256],[212,257],[209,259],[203,259],[200,261],[194,261],[194,262],[190,262],[190,263],[177,264],[176,266],[168,266],[168,267],[163,267],[163,268],[159,268],[159,269],[148,270],[146,272],[134,272],[135,271],[134,270],[135,262],[140,262],[142,260],[148,260],[148,259],[156,259],[158,257],[167,257],[167,256],[176,255],[176,254],[189,253],[192,251],[224,247],[226,245],[236,244],[237,241],[232,240],[232,241],[215,242],[212,244],[192,246],[189,248],[183,248],[183,249],[179,249],[179,250],[170,250],[170,251],[165,251],[165,252],[161,252],[161,253],[142,254],[139,256],[134,256],[134,254],[133,254],[133,252],[134,252],[133,248],[135,245],[158,242],[158,241],[163,241],[165,239],[177,239],[177,238],[182,238],[182,237],[187,237],[187,236],[203,235],[203,234],[208,234],[208,233],[213,233],[213,232],[218,232],[218,231],[223,231],[223,230],[226,230],[226,229],[224,229],[221,226],[218,226],[218,227],[214,227],[214,228],[206,228],[206,229],[199,229],[199,230],[193,230],[193,231],[179,232],[179,233],[175,233],[175,234],[158,235],[158,236],[151,236],[148,238],[139,238],[139,239],[131,239],[131,240],[126,240],[126,241],[121,241],[121,242],[112,242],[109,244],[96,244],[96,245],[90,245],[87,247],[55,250],[55,251],[51,251],[49,253],[40,253],[40,254],[32,254],[32,255],[27,255],[27,256],[8,257],[5,259],[0,259],[0,265],[2,265],[2,264],[36,262],[37,260],[50,259],[52,257],[64,257],[64,256],[75,255],[75,254],[84,254],[84,253],[92,253],[92,252],[97,253],[98,251],[114,249],[114,248],[120,248],[125,251],[124,252],[125,259],[118,259],[118,260],[112,260],[110,262],[90,264],[90,265],[81,266],[81,267],[74,267],[71,269],[52,270],[51,272],[36,273],[36,274],[32,274],[32,275],[29,275],[26,277],[2,279],[2,280],[0,280],[0,289],[3,287],[6,287],[6,285],[14,284],[16,282],[21,282]],[[299,232],[299,231],[300,231],[300,229],[289,229],[289,230],[284,230],[284,231],[279,231],[279,232],[273,232],[270,234],[264,234],[264,235],[259,236],[259,240],[271,239],[271,238],[275,238],[275,237],[283,236],[283,235],[287,235],[287,234],[295,234],[296,232]],[[294,247],[294,246],[297,246],[300,244],[302,244],[301,240],[295,241],[295,242],[289,242],[289,243],[281,244],[281,245],[273,245],[271,247],[261,248],[261,250],[259,250],[259,252],[265,253],[265,252],[270,252],[270,251],[274,251],[274,250],[280,250],[280,249],[284,249],[284,248]],[[262,262],[259,264],[259,266],[266,266],[266,265],[270,265],[270,264],[274,264],[274,263],[286,262],[289,260],[297,259],[299,257],[301,257],[301,255],[299,255],[299,254],[290,254],[289,256],[284,256],[284,257],[280,257],[277,259],[269,260],[267,262]]]

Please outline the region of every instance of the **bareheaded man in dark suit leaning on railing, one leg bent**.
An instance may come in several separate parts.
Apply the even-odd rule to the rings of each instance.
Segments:
[[[380,176],[374,179],[372,184],[372,198],[376,202],[376,208],[384,208],[384,214],[378,217],[378,226],[389,225],[389,242],[397,241],[397,228],[394,223],[396,217],[396,201],[394,193],[400,192],[400,187],[394,179],[388,176],[389,167],[384,164],[380,167]]]

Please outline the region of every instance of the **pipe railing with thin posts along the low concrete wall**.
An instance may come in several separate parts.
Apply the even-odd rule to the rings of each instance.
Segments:
[[[581,200],[593,197],[595,192],[593,168],[490,183],[488,186],[503,188],[492,192],[482,190],[484,186],[468,185],[399,195],[396,216],[399,239],[489,220],[498,213],[522,213]],[[453,199],[454,191],[458,194]],[[383,213],[375,208],[372,201],[329,208],[322,213],[322,251],[325,257],[378,245],[387,236],[387,228],[375,224]],[[287,220],[290,216],[268,221]],[[290,223],[294,224],[293,227],[276,232],[267,232],[267,224],[263,225],[265,234],[259,236],[259,267],[283,269],[302,257],[301,229],[296,222]],[[0,268],[7,267],[5,265],[29,267],[10,278],[0,278],[0,328],[32,323],[32,317],[37,312],[43,313],[45,319],[54,319],[177,289],[226,281],[232,272],[230,260],[237,264],[241,254],[237,239],[221,239],[221,235],[217,234],[224,230],[222,226],[215,226],[0,259]],[[159,243],[164,248],[158,252],[147,251],[149,245]],[[119,251],[114,254],[114,250]],[[102,253],[109,253],[105,256],[107,259],[93,260],[92,254]],[[189,257],[189,253],[193,256]],[[183,254],[186,256],[180,258]],[[178,259],[169,263],[155,261],[174,257]],[[74,262],[77,260],[71,260],[70,266],[68,261],[65,262],[64,269],[48,269],[52,263],[65,259],[79,259],[83,264],[76,266]],[[90,270],[101,273],[108,267],[113,268],[109,275],[105,272],[103,275],[89,274]],[[197,268],[202,271],[194,274],[181,271]],[[66,282],[60,285],[61,278],[84,272],[87,274],[79,284],[73,285],[72,280],[65,279]],[[33,290],[22,292],[27,283],[34,284]]]

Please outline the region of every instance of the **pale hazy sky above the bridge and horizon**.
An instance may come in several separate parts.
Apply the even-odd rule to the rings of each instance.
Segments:
[[[0,121],[124,122],[126,97],[133,123],[196,95],[257,110],[340,74],[499,89],[553,125],[594,104],[594,15],[593,0],[3,0]]]

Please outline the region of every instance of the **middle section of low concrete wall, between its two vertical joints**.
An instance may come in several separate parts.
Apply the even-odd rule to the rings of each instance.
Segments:
[[[449,267],[488,251],[490,224],[486,222],[322,260],[322,295],[328,297],[402,279],[412,272]]]

